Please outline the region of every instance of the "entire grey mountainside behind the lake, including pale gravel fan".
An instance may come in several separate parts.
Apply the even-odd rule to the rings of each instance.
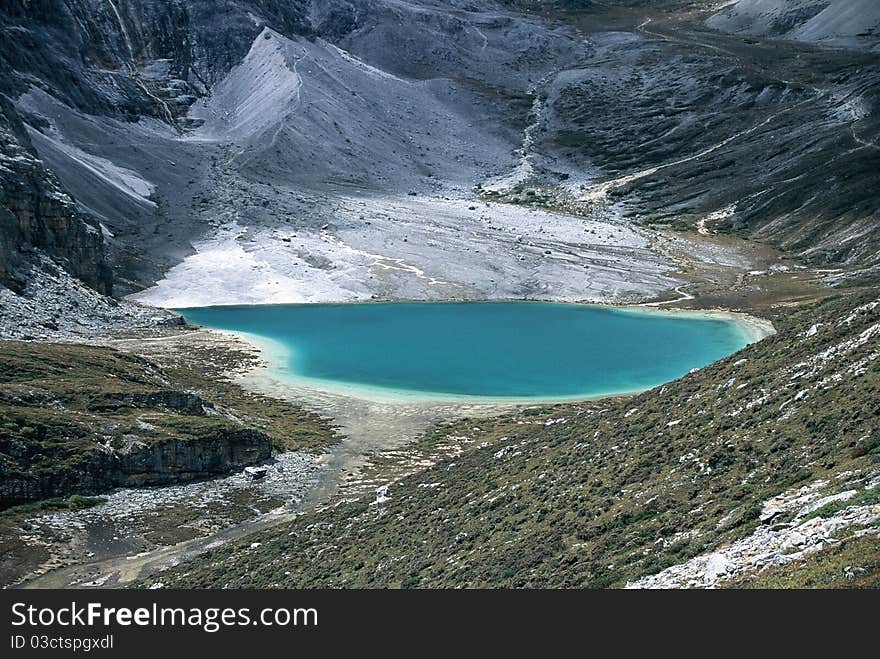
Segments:
[[[50,257],[153,304],[635,300],[681,283],[646,227],[873,280],[876,55],[743,37],[719,21],[760,3],[720,4],[14,1],[0,90],[71,226],[100,227]]]

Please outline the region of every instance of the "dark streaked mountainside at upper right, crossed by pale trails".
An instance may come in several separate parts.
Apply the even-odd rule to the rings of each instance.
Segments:
[[[542,87],[529,176],[492,192],[522,200],[532,188],[581,212],[752,236],[838,269],[832,282],[875,280],[880,69],[865,51],[878,38],[830,49],[703,24],[722,26],[747,2],[720,14],[705,3],[615,3],[629,8],[615,14],[625,31],[604,32],[607,4],[552,5],[589,34],[594,57]],[[849,5],[812,4],[826,18]],[[874,8],[849,9],[865,26],[877,20]]]

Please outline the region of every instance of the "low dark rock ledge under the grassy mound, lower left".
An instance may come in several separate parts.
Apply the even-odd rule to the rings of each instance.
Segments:
[[[132,439],[121,449],[96,446],[63,468],[0,479],[0,507],[116,487],[174,485],[212,478],[267,460],[269,438],[250,429],[220,430],[201,439]]]

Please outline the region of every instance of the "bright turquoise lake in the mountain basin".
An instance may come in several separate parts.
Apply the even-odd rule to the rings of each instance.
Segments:
[[[745,346],[720,317],[543,302],[388,302],[179,309],[270,339],[277,372],[324,386],[516,399],[649,389]]]

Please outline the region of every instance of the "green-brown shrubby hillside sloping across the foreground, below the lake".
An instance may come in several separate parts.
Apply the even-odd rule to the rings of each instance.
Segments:
[[[872,489],[880,481],[878,292],[785,309],[775,322],[778,335],[622,402],[438,427],[421,447],[445,447],[448,457],[392,484],[387,499],[305,516],[156,580],[615,587],[759,527],[793,528],[805,519],[798,502],[852,490],[849,503],[807,517],[873,510],[865,506],[876,506],[880,491]],[[768,507],[779,495],[789,503]],[[841,527],[821,541],[845,552],[852,532]],[[872,551],[843,560],[864,556],[859,579],[876,583],[877,531],[858,542]],[[792,552],[776,562],[790,572],[800,559]]]

